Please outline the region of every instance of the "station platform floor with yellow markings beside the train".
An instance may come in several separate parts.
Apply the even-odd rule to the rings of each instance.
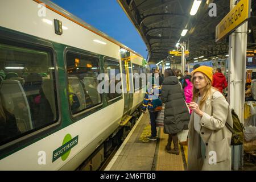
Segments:
[[[187,169],[187,146],[180,146],[179,155],[165,151],[168,135],[157,127],[159,139],[151,135],[148,111],[139,117],[129,135],[119,147],[105,171],[184,171]],[[172,144],[172,148],[173,148]]]

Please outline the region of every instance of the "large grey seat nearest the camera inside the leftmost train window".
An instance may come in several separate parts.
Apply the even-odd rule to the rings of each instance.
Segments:
[[[32,130],[30,107],[22,84],[18,80],[3,80],[0,86],[3,106],[15,115],[21,133]]]

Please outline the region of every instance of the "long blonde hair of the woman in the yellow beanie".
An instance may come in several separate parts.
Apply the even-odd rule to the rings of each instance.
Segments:
[[[202,72],[200,72],[202,73]],[[210,92],[211,92],[211,89],[215,89],[214,87],[212,87],[212,82],[210,81],[210,79],[204,75],[204,73],[202,73],[206,82],[207,82],[207,85],[205,86],[204,88],[204,95],[201,96],[202,99],[199,103],[199,108],[202,109],[203,105],[205,104],[205,101],[207,100],[207,97],[210,95]],[[192,84],[194,85],[194,77],[191,78],[191,82]],[[215,89],[216,90],[216,89]],[[195,86],[193,86],[193,102],[196,102],[197,98],[199,97],[200,95],[200,92],[199,92],[199,89],[196,89]]]

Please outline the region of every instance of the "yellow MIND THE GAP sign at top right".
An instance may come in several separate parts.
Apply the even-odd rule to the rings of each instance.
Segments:
[[[235,30],[248,18],[250,18],[251,0],[241,0],[237,5],[229,11],[224,19],[216,27],[216,39],[221,40],[230,32]]]

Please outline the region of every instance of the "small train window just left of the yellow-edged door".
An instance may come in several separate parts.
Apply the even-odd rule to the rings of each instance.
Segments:
[[[117,79],[117,75],[120,74],[120,64],[118,61],[113,60],[104,60],[104,71],[108,74],[109,77],[109,93],[106,94],[107,101],[117,98],[122,95],[121,90],[117,90],[115,87],[117,86],[118,82],[121,81]],[[113,84],[114,83],[114,84]],[[113,88],[112,88],[113,87]],[[112,88],[112,89],[111,89]]]

